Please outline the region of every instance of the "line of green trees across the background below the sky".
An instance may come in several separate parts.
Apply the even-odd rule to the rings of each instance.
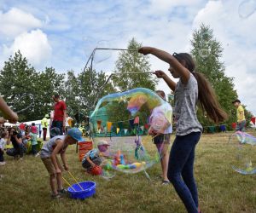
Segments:
[[[236,122],[236,109],[231,101],[237,98],[237,93],[234,89],[234,79],[226,77],[224,73],[221,43],[214,38],[209,26],[201,25],[200,29],[193,33],[191,44],[190,54],[195,58],[196,72],[204,73],[212,83],[221,107],[229,114],[227,123]],[[142,43],[137,43],[136,39],[132,38],[127,49],[139,49],[141,46]],[[137,87],[155,90],[158,79],[154,75],[143,73],[150,71],[148,56],[134,51],[121,51],[113,70],[113,73],[119,74],[113,75],[112,81],[106,83],[108,79],[106,73],[97,72],[93,67],[86,67],[78,74],[75,74],[73,70],[58,73],[54,67],[45,67],[44,71],[38,72],[18,51],[4,62],[0,71],[0,91],[3,99],[16,111],[32,101],[23,100],[22,95],[33,95],[33,106],[20,113],[20,122],[43,118],[52,110],[51,96],[55,93],[60,94],[61,98],[66,101],[69,115],[79,121],[85,115],[90,114],[96,101],[103,95]],[[127,72],[139,73],[130,75]],[[172,97],[171,90],[169,97]],[[20,98],[22,103],[19,103]],[[172,102],[172,99],[170,101]],[[251,116],[252,114],[246,110],[246,117]],[[201,110],[198,111],[198,118],[203,125],[212,124]]]

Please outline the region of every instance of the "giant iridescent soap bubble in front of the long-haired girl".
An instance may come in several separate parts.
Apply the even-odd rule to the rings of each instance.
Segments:
[[[131,89],[104,96],[90,116],[94,146],[104,150],[104,174],[119,170],[137,173],[157,163],[161,156],[152,135],[165,133],[172,125],[172,107],[150,89]],[[151,134],[151,135],[148,135]]]

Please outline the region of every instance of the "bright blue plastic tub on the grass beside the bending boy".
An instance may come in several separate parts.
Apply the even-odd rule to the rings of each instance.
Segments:
[[[72,187],[67,188],[70,198],[72,199],[87,199],[96,193],[96,182],[94,181],[79,182],[79,184],[73,184]]]

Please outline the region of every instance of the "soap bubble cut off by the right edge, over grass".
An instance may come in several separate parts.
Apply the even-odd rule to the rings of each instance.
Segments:
[[[232,168],[248,175],[256,173],[256,138],[245,132],[237,131],[230,136],[230,152],[233,154]]]

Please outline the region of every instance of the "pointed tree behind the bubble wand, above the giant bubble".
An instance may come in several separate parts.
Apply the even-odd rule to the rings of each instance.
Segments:
[[[121,91],[126,91],[128,89],[134,89],[138,87],[152,90],[155,89],[155,85],[158,82],[157,78],[153,77],[151,74],[143,73],[150,72],[148,56],[144,56],[139,54],[137,51],[134,51],[140,47],[142,47],[142,44],[137,43],[135,38],[132,38],[127,48],[131,51],[124,51],[119,54],[114,73],[121,74],[113,76],[113,84]],[[139,73],[129,74],[127,72]]]

